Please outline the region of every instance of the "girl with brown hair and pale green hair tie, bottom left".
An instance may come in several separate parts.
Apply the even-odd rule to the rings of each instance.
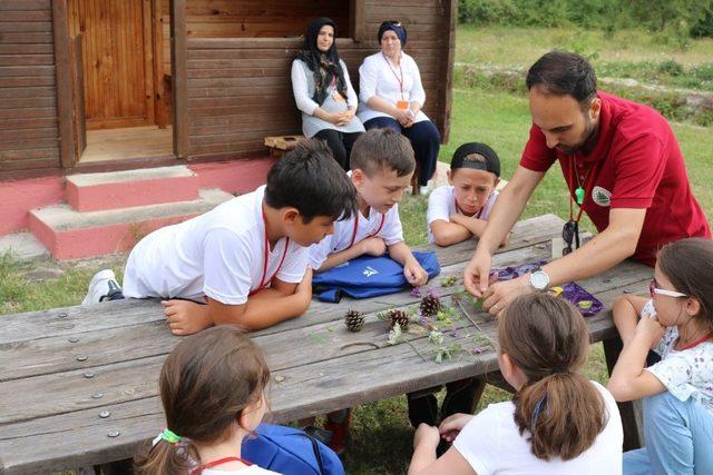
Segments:
[[[236,327],[222,325],[184,339],[162,368],[166,429],[139,473],[275,474],[241,458],[243,438],[265,414],[268,380],[262,353]]]

